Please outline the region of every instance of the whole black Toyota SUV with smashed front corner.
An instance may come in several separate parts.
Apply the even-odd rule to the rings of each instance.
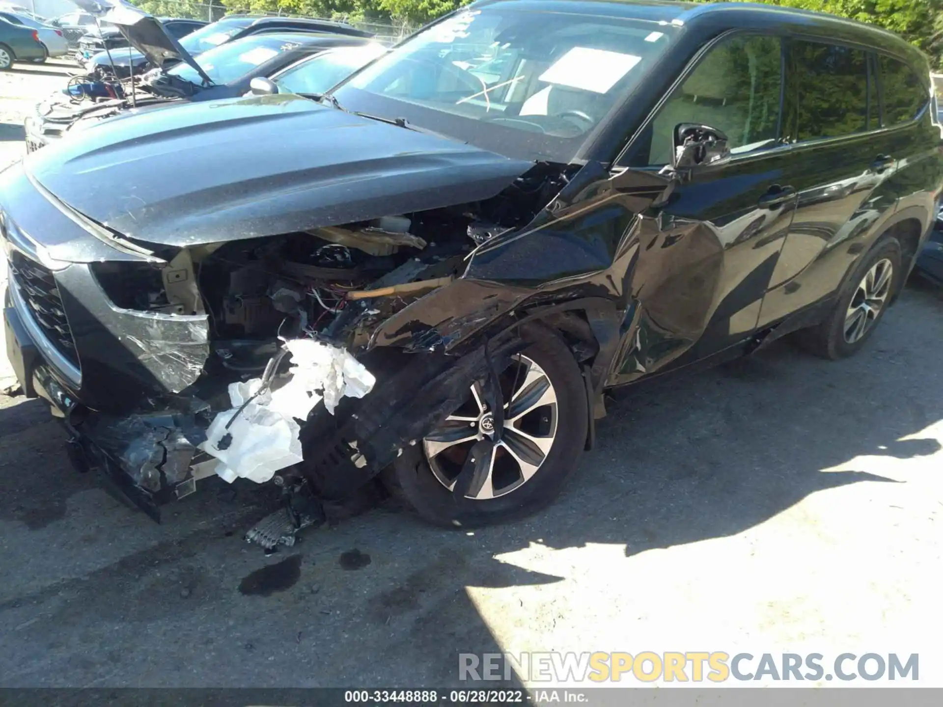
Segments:
[[[0,177],[8,354],[157,515],[379,476],[431,521],[554,498],[603,393],[796,333],[853,354],[943,183],[929,67],[769,6],[486,0],[327,96],[105,121]]]

